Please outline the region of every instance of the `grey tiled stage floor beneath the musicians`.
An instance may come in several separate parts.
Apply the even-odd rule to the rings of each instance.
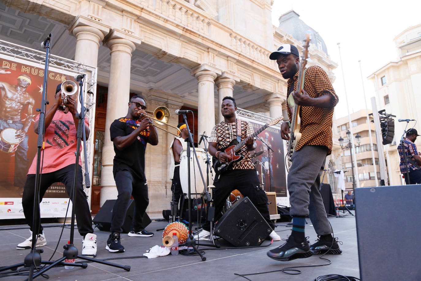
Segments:
[[[341,212],[342,214],[342,212]],[[309,222],[306,225],[306,235],[309,236],[310,243],[314,243],[317,239],[316,233]],[[359,278],[360,271],[358,266],[358,251],[357,251],[357,233],[355,227],[354,217],[331,217],[329,219],[335,237],[343,242],[340,248],[343,250],[340,255],[325,255],[324,257],[332,261],[330,265],[312,267],[312,268],[298,268],[301,270],[299,275],[287,275],[282,272],[265,273],[260,275],[247,276],[250,280],[313,280],[317,276],[325,274],[341,274],[346,276],[354,276]],[[153,237],[129,237],[127,234],[121,235],[121,243],[125,247],[124,253],[110,253],[105,249],[109,232],[96,230],[97,235],[97,259],[107,258],[121,258],[142,256],[146,250],[155,245],[162,244],[162,231],[157,229],[164,228],[168,222],[166,221],[152,221],[147,227],[148,231],[155,232]],[[46,224],[58,225],[58,224]],[[290,234],[291,227],[286,223],[278,223],[276,227],[277,233],[281,238],[287,238]],[[1,242],[0,242],[0,266],[8,266],[24,261],[24,257],[29,253],[29,250],[16,250],[16,245],[29,237],[29,229],[21,226],[1,226]],[[21,228],[21,229],[11,229]],[[42,254],[43,260],[48,260],[53,253],[58,242],[61,232],[61,227],[45,227],[44,233],[47,240],[47,245],[37,248],[44,249]],[[69,227],[64,228],[63,237],[57,248],[57,252],[53,259],[62,257],[63,245],[67,244],[69,240]],[[218,240],[222,248],[231,247],[222,239]],[[121,265],[130,265],[131,270],[125,271],[120,268],[114,268],[98,263],[88,263],[88,267],[64,269],[64,267],[52,268],[46,272],[50,276],[49,280],[246,280],[234,273],[247,274],[264,271],[280,270],[290,266],[300,265],[322,265],[327,263],[321,260],[318,256],[312,256],[306,259],[297,259],[290,262],[279,262],[272,260],[266,256],[269,249],[280,246],[285,241],[276,241],[267,247],[248,248],[248,249],[215,249],[205,246],[200,246],[200,249],[205,250],[206,261],[203,262],[199,256],[184,256],[171,254],[165,257],[157,257],[148,259],[147,257],[125,259],[125,260],[109,260],[109,262],[119,263]],[[270,244],[269,240],[264,241],[262,245]],[[75,246],[82,252],[82,237],[77,230],[75,231]],[[208,250],[209,249],[209,250]],[[211,250],[210,250],[211,249]],[[25,276],[11,276],[4,280],[24,280]],[[39,276],[36,280],[43,280]]]

